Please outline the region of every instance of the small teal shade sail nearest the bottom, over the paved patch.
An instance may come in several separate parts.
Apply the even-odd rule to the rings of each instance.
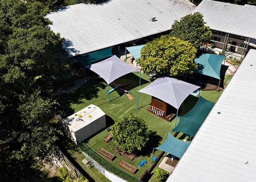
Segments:
[[[178,158],[181,158],[185,150],[188,148],[189,144],[190,142],[183,142],[177,138],[174,138],[173,135],[168,131],[165,142],[163,142],[163,144],[156,149],[165,151]]]

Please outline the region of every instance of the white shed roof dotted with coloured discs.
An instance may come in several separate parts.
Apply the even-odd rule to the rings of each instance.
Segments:
[[[77,116],[75,116],[76,114]],[[82,117],[79,117],[79,114],[81,114]],[[91,115],[91,118],[89,118],[89,115]],[[63,122],[75,132],[104,115],[105,113],[98,106],[91,104],[71,116],[68,116],[63,120]]]

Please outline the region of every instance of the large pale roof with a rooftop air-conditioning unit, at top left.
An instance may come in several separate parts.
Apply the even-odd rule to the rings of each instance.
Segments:
[[[111,0],[62,7],[47,17],[70,55],[79,55],[167,31],[195,7],[188,0]]]

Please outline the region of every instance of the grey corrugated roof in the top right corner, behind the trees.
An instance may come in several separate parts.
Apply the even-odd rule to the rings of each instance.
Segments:
[[[256,6],[203,0],[194,12],[201,12],[211,29],[256,38]]]

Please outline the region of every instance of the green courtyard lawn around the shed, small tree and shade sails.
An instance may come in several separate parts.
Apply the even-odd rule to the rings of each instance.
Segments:
[[[116,155],[117,158],[114,159],[113,162],[110,162],[108,159],[106,159],[106,161],[130,175],[132,174],[118,166],[118,162],[122,159],[129,164],[137,167],[139,170],[134,175],[134,177],[136,178],[139,178],[146,169],[150,168],[152,149],[161,145],[165,141],[167,131],[171,131],[174,128],[175,124],[175,119],[172,122],[167,122],[166,120],[163,120],[158,116],[155,116],[150,112],[146,111],[146,108],[151,102],[150,95],[139,93],[139,109],[136,110],[137,91],[151,83],[150,78],[142,74],[142,86],[139,86],[138,75],[139,73],[128,74],[127,76],[123,76],[115,81],[115,83],[132,83],[132,85],[126,86],[125,89],[132,92],[134,100],[129,100],[127,96],[123,95],[123,93],[119,90],[111,92],[110,102],[108,102],[108,96],[105,94],[105,91],[107,90],[107,84],[105,84],[102,79],[89,80],[87,83],[83,84],[83,86],[81,86],[78,90],[71,93],[62,94],[57,99],[61,106],[63,106],[64,108],[70,108],[74,110],[74,112],[79,111],[84,107],[89,106],[90,104],[95,104],[96,106],[100,107],[107,115],[107,127],[101,132],[95,134],[93,137],[84,141],[84,143],[86,143],[86,145],[88,146],[91,146],[90,148],[95,152],[102,147],[103,149]],[[221,93],[222,91],[201,91],[200,95],[207,100],[216,102]],[[196,104],[196,101],[197,97],[194,97],[192,95],[188,96],[188,98],[185,99],[184,103],[182,103],[179,109],[178,116],[184,115],[186,112],[191,110],[191,108]],[[129,115],[130,113],[142,116],[144,120],[146,120],[148,130],[150,131],[149,142],[143,148],[143,150],[139,152],[138,157],[136,157],[133,161],[129,161],[128,159],[118,155],[112,150],[112,147],[109,144],[103,142],[103,138],[108,135],[107,128],[112,126],[114,120],[121,119],[124,116]],[[172,132],[172,134],[174,134],[174,132]],[[179,134],[177,138],[182,138],[182,134]],[[157,150],[155,151],[154,156],[158,156],[160,153],[161,151]],[[83,156],[81,153],[75,153],[72,154],[72,156],[74,156],[76,158],[76,161],[82,165],[81,161]],[[148,163],[140,168],[138,166],[138,162],[142,161],[142,159],[145,159]],[[93,175],[98,176],[97,173],[94,174],[94,169],[90,169],[89,171],[93,171],[93,173],[90,172],[92,178],[94,178]],[[154,174],[151,175],[154,176]],[[150,180],[154,181],[155,179]],[[95,177],[95,181],[98,181],[97,177]]]

